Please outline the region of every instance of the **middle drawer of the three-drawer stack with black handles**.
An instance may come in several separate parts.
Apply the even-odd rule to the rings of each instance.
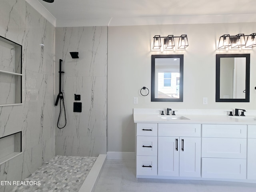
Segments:
[[[157,156],[157,137],[137,136],[137,155]]]

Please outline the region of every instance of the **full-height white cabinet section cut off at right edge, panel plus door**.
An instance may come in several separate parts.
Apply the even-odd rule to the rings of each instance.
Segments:
[[[256,179],[256,125],[248,125],[247,179]]]

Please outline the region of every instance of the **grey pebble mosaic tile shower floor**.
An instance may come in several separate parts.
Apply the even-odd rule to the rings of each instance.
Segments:
[[[78,192],[96,159],[54,156],[24,180],[40,185],[15,186],[12,192]]]

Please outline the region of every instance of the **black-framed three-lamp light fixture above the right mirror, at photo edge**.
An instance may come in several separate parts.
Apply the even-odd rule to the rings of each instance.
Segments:
[[[229,34],[225,34],[220,36],[218,49],[225,49],[228,47],[233,48],[252,48],[256,46],[256,33],[252,33],[250,35],[237,34],[235,36],[230,36]]]

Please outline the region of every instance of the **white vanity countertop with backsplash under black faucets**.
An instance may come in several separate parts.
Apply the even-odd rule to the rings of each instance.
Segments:
[[[162,110],[162,109],[160,109]],[[160,115],[159,109],[134,109],[134,123],[185,123],[185,124],[251,124],[256,125],[256,115],[228,116],[227,110],[177,110],[176,116]],[[195,114],[189,114],[191,112]],[[166,114],[166,111],[164,112]],[[233,113],[234,114],[234,113]],[[170,119],[184,116],[189,120]],[[166,118],[161,118],[166,117]]]

